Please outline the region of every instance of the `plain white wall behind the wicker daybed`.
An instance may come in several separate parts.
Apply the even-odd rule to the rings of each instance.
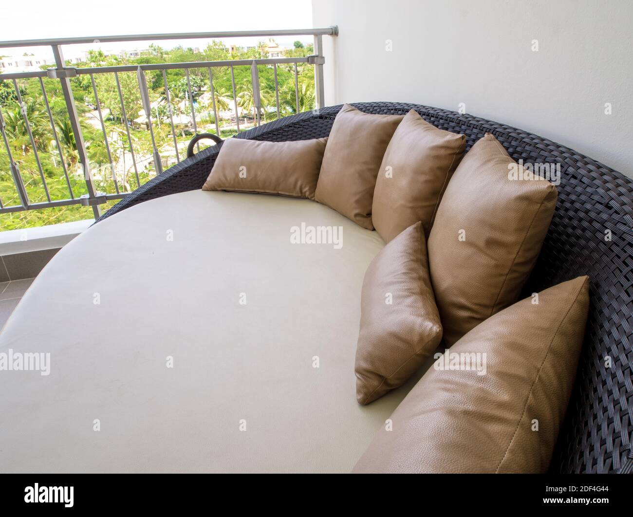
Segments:
[[[339,26],[337,38],[323,38],[326,104],[403,101],[457,110],[465,103],[468,113],[633,177],[632,1],[312,4],[314,27]]]

